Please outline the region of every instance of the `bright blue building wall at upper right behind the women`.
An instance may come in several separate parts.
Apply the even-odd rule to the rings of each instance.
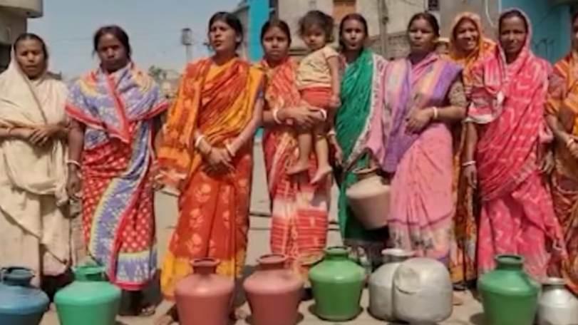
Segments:
[[[520,8],[532,21],[532,48],[550,62],[562,58],[570,48],[569,6],[554,6],[551,0],[502,0],[502,10]]]

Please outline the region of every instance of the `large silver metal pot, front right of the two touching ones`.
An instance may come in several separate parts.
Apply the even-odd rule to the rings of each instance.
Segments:
[[[438,323],[453,311],[448,268],[435,259],[416,257],[401,263],[393,277],[393,311],[409,323]]]

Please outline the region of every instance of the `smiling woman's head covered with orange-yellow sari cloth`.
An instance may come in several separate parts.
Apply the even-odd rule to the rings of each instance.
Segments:
[[[450,30],[450,58],[465,68],[465,78],[473,63],[495,49],[495,42],[484,36],[478,14],[464,12],[455,17]]]

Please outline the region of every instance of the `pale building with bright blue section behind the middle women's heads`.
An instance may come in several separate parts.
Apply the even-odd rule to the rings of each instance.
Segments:
[[[425,10],[433,11],[439,16],[439,2],[438,0],[243,0],[234,13],[244,26],[248,27],[242,53],[248,53],[248,57],[253,61],[262,56],[260,28],[269,16],[287,21],[293,38],[291,54],[303,56],[307,49],[299,38],[299,19],[309,10],[321,10],[334,17],[336,38],[339,21],[344,16],[353,12],[362,14],[368,21],[371,47],[376,52],[385,53],[388,58],[393,58],[408,52],[405,31],[411,16]],[[388,46],[385,46],[386,44]]]

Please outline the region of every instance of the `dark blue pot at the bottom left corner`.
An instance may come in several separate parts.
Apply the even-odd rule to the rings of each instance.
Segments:
[[[38,325],[48,310],[48,296],[31,287],[31,269],[6,267],[0,269],[0,324]]]

